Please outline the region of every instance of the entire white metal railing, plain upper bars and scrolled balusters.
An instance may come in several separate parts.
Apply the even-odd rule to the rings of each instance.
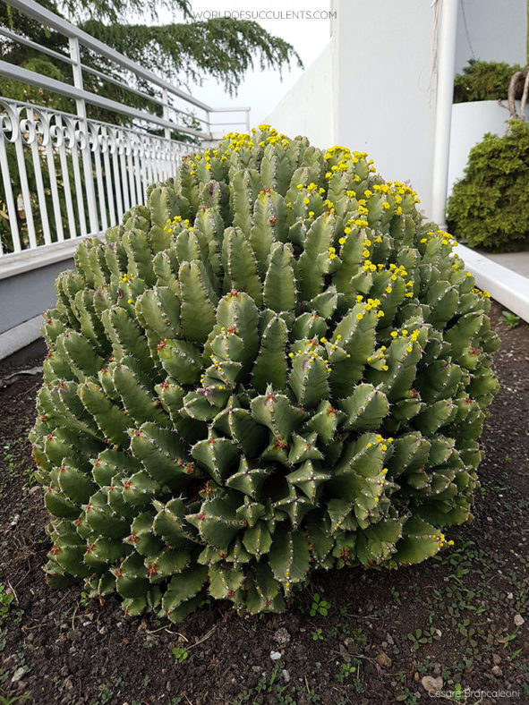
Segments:
[[[8,217],[0,218],[0,257],[99,234],[118,223],[126,210],[145,202],[149,183],[175,175],[183,154],[218,137],[215,127],[249,129],[249,108],[207,106],[34,0],[4,2],[57,32],[67,48],[55,51],[4,27],[0,46],[2,41],[19,42],[51,55],[72,67],[73,82],[56,81],[3,60],[0,75],[69,98],[74,107],[66,113],[0,96],[0,208],[4,204]],[[131,81],[83,64],[81,47],[126,70]],[[152,110],[84,89],[83,72],[148,101]],[[151,93],[143,89],[146,82]],[[94,119],[96,110],[115,116],[115,122]],[[226,112],[242,115],[230,123],[212,122],[212,115]]]

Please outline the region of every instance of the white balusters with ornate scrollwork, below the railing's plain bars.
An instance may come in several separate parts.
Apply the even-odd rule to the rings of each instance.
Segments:
[[[145,203],[149,183],[176,174],[188,150],[149,127],[0,98],[0,208],[8,216],[0,219],[0,255],[116,225]]]

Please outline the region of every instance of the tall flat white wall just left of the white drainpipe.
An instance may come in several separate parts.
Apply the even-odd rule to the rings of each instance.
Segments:
[[[337,142],[410,180],[428,213],[435,129],[436,13],[426,0],[336,0]]]

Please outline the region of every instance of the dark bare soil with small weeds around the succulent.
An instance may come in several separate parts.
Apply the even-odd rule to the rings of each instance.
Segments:
[[[79,587],[51,590],[41,570],[47,512],[26,439],[41,378],[0,390],[0,583],[14,595],[0,616],[0,702],[412,705],[431,701],[429,675],[445,692],[484,692],[466,702],[506,702],[498,691],[514,691],[529,703],[529,327],[510,329],[500,313],[494,304],[501,390],[482,437],[474,522],[448,531],[455,546],[421,565],[314,574],[280,616],[212,603],[171,625],[127,620],[117,599],[99,604]],[[314,593],[328,616],[309,615]],[[0,593],[0,615],[2,604]]]

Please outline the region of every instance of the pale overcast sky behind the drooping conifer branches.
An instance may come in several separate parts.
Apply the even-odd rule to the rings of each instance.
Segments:
[[[306,14],[309,12],[320,13],[322,11],[327,13],[329,4],[329,0],[265,0],[262,3],[259,0],[252,3],[244,3],[243,0],[192,0],[192,10],[196,19],[200,19],[199,13],[205,13],[203,17],[206,19],[207,13],[213,11],[234,13],[232,16],[242,11],[252,11],[253,13],[269,13],[269,11],[272,11],[276,17],[277,13],[282,11],[282,19],[266,19],[266,17],[262,17],[262,19],[255,19],[255,21],[258,21],[270,34],[283,38],[292,44],[301,56],[306,68],[326,46],[330,32],[328,19],[306,19]],[[297,18],[288,19],[288,11],[297,13],[304,11],[305,17],[301,19],[298,14]],[[168,13],[159,13],[161,24],[178,21],[179,19]],[[283,81],[281,81],[278,69],[261,72],[257,68],[254,71],[247,72],[235,98],[230,98],[226,94],[224,87],[211,79],[205,79],[202,86],[191,84],[189,88],[194,98],[200,99],[209,106],[250,106],[250,124],[255,126],[264,121],[302,73],[303,70],[298,68],[297,63],[293,63],[290,70],[287,67],[283,69]],[[236,114],[234,119],[242,119],[241,114]],[[217,114],[213,117],[213,122],[227,122],[227,120],[229,120],[229,116],[222,114]],[[221,129],[218,128],[217,131]],[[237,129],[243,129],[243,125]],[[213,130],[217,132],[215,128]]]

